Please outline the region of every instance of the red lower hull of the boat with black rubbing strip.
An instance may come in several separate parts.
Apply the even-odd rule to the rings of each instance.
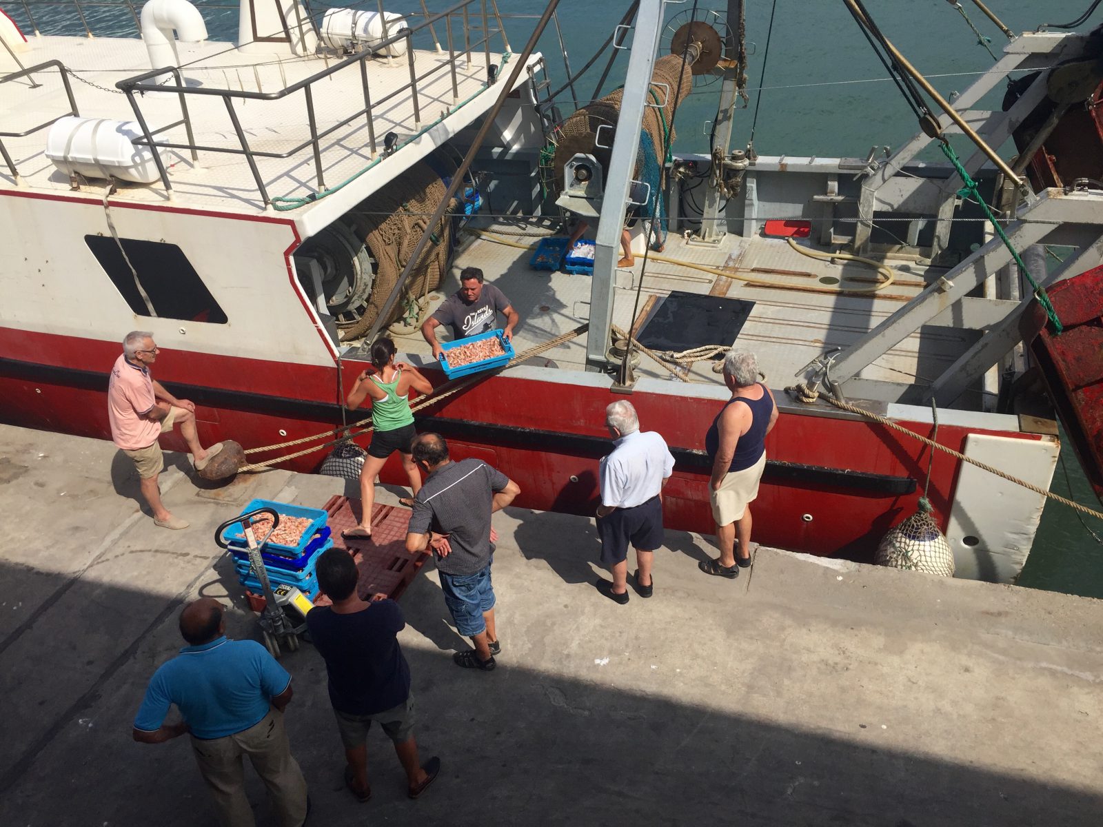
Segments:
[[[109,439],[107,368],[118,345],[0,329],[0,353],[6,355],[0,361],[0,419]],[[98,365],[101,370],[73,365]],[[346,388],[364,365],[345,362],[343,367],[341,388]],[[246,449],[270,445],[331,431],[342,422],[335,367],[176,352],[162,353],[156,373],[174,394],[196,402],[200,437],[207,443],[233,438]],[[439,385],[443,378],[433,376],[433,382]],[[457,458],[478,457],[502,469],[521,485],[515,505],[592,514],[598,460],[609,450],[602,423],[611,398],[608,388],[597,385],[506,373],[421,411],[418,428],[443,433]],[[713,534],[709,468],[700,449],[722,400],[641,390],[631,399],[642,427],[662,433],[678,460],[664,497],[666,525]],[[363,416],[347,412],[350,422]],[[901,425],[924,436],[932,432],[930,423]],[[943,425],[938,441],[961,451],[966,436],[977,432]],[[162,444],[185,449],[179,432],[165,434]],[[283,452],[291,450],[298,448]],[[255,453],[249,459],[280,453]],[[822,407],[784,411],[767,440],[767,454],[771,465],[754,504],[756,539],[858,560],[870,559],[885,531],[914,509],[913,481],[924,479],[928,464],[925,449],[913,439]],[[324,455],[315,452],[278,466],[311,472]],[[929,497],[943,527],[957,470],[949,458],[934,463]],[[384,468],[382,479],[405,484],[397,457]]]

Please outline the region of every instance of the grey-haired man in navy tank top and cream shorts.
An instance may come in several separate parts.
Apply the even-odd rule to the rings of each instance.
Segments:
[[[754,354],[730,351],[724,359],[724,384],[731,391],[705,434],[713,461],[709,500],[720,556],[698,563],[706,574],[736,578],[751,565],[751,509],[765,470],[765,434],[778,422],[773,394],[758,382]],[[736,554],[736,540],[739,552]]]

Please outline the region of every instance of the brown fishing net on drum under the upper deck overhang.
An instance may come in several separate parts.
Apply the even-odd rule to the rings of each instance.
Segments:
[[[375,323],[446,192],[440,175],[419,161],[349,213],[353,232],[365,240],[375,257],[376,271],[364,313],[352,326],[342,331],[342,342],[363,336]],[[406,280],[403,296],[395,302],[385,323],[408,313],[411,307],[420,307],[420,298],[440,284],[448,268],[451,226],[452,216],[446,212],[433,228],[429,244]]]

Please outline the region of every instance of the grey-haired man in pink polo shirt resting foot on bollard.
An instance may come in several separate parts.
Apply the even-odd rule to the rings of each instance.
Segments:
[[[195,432],[195,404],[178,399],[150,375],[150,365],[157,362],[159,352],[152,333],[133,331],[127,334],[122,340],[122,355],[115,361],[107,384],[107,416],[115,444],[135,461],[141,493],[153,512],[153,522],[162,528],[188,528],[188,520],[172,516],[161,502],[157,479],[164,458],[158,437],[179,425],[200,471],[222,450],[222,442],[204,450]]]

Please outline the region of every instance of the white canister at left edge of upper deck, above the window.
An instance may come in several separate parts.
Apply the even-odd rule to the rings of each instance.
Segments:
[[[46,132],[46,158],[66,175],[151,184],[160,175],[153,150],[135,143],[141,137],[137,121],[71,115],[58,118]]]

